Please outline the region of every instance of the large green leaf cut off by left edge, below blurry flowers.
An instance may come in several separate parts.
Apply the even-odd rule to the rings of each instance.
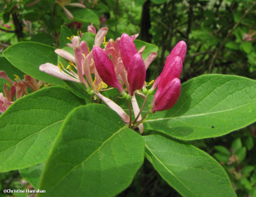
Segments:
[[[67,114],[81,105],[72,92],[47,87],[18,99],[0,116],[0,171],[44,161]]]

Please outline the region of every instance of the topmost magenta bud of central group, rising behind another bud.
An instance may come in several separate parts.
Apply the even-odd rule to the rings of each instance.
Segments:
[[[132,66],[134,61],[132,57],[138,53],[134,42],[128,34],[122,34],[121,36],[120,52],[124,67],[128,71],[128,68]]]

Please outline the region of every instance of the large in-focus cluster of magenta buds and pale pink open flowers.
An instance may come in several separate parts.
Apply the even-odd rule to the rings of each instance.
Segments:
[[[80,41],[79,36],[73,36],[72,48],[74,55],[69,52],[57,49],[56,54],[68,60],[67,68],[59,62],[58,66],[45,63],[40,66],[40,70],[54,75],[63,80],[70,80],[83,84],[88,93],[98,96],[109,107],[115,110],[126,124],[131,128],[138,127],[143,132],[142,121],[147,117],[141,117],[141,112],[145,106],[148,95],[157,89],[152,103],[152,112],[163,111],[171,108],[180,95],[180,74],[182,72],[182,62],[186,55],[186,43],[180,41],[166,59],[163,72],[156,79],[152,88],[147,90],[145,82],[146,70],[152,61],[157,57],[156,52],[152,52],[143,61],[141,54],[145,47],[137,50],[134,40],[138,34],[129,36],[122,34],[120,38],[106,42],[107,27],[99,29],[96,33],[93,25],[88,26],[88,31],[95,33],[95,43],[90,51],[86,42]],[[101,48],[101,45],[104,48]],[[93,79],[94,77],[94,79]],[[152,84],[152,82],[150,82]],[[148,85],[150,85],[148,84]],[[123,98],[127,99],[129,105],[129,115],[114,101],[103,96],[100,92],[106,91],[108,86],[116,88]],[[143,89],[143,91],[141,91]],[[128,94],[126,93],[128,92]],[[144,98],[143,106],[140,108],[134,94]],[[134,112],[134,121],[131,116],[131,103]],[[151,110],[151,108],[150,108]]]

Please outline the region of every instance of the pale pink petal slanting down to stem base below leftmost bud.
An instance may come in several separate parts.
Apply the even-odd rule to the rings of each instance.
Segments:
[[[124,110],[119,105],[117,105],[111,99],[106,98],[99,92],[95,92],[95,94],[99,96],[99,98],[102,99],[102,101],[104,101],[104,103],[106,103],[112,110],[114,110],[122,118],[125,124],[129,122],[129,119],[130,119],[129,115],[127,115],[127,113],[125,113]]]

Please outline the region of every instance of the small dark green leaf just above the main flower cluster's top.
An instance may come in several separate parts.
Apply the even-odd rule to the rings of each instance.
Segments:
[[[72,13],[74,20],[77,22],[92,22],[95,26],[100,24],[98,16],[94,13],[94,11],[87,8],[68,8],[68,10]]]

